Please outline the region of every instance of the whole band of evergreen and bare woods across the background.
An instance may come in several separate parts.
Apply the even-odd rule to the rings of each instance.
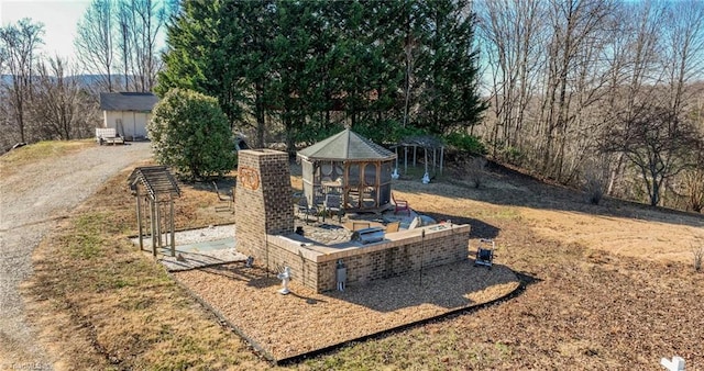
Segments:
[[[76,64],[0,30],[3,150],[92,135],[98,91],[188,88],[255,146],[431,134],[592,201],[704,204],[701,1],[95,0],[79,29]]]

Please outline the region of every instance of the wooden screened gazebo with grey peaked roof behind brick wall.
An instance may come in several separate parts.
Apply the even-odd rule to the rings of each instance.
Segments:
[[[391,205],[396,154],[349,128],[299,150],[298,158],[309,204],[338,193],[345,212],[378,212]]]

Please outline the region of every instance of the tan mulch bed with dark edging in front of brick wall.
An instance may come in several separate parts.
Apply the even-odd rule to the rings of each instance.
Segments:
[[[472,260],[377,280],[345,291],[316,293],[257,267],[231,263],[174,277],[273,360],[289,359],[419,321],[477,306],[514,292],[504,266]]]

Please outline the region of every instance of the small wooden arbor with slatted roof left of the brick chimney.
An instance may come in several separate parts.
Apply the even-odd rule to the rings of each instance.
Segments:
[[[128,179],[130,191],[136,201],[136,223],[140,231],[140,249],[144,249],[143,216],[152,238],[152,255],[156,248],[170,245],[170,255],[176,256],[174,239],[174,199],[180,196],[176,179],[165,166],[139,167]],[[162,238],[163,237],[163,238]],[[170,238],[169,238],[170,237]]]

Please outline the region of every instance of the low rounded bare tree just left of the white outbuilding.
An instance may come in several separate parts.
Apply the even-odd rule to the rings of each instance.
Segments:
[[[34,137],[38,139],[74,139],[91,135],[98,120],[95,102],[80,87],[67,61],[54,57],[37,67],[32,116]]]

